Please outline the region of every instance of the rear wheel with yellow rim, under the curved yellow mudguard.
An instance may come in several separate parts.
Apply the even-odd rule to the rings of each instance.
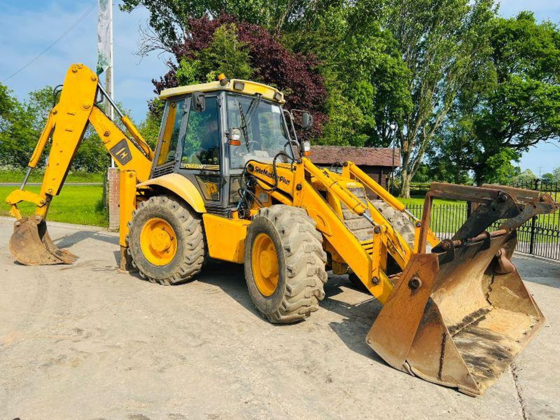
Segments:
[[[141,202],[128,223],[128,251],[140,276],[178,284],[193,278],[204,262],[202,221],[183,201],[157,195]]]

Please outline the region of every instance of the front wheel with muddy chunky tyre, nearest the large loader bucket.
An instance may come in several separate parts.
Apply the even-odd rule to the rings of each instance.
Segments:
[[[245,239],[245,279],[260,314],[272,323],[300,321],[325,297],[326,253],[315,221],[298,207],[265,207]]]

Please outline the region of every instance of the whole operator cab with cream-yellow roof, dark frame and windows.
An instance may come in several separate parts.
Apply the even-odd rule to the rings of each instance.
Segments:
[[[299,157],[292,147],[298,146],[292,114],[273,87],[223,77],[167,89],[160,98],[166,104],[152,178],[184,175],[210,213],[227,216],[235,209],[250,160],[272,164],[276,157],[280,164]],[[308,113],[302,120],[304,128],[311,127]]]

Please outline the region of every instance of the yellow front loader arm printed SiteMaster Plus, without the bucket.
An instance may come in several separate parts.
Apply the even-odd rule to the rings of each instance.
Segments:
[[[386,301],[393,290],[393,284],[386,274],[387,254],[393,256],[396,263],[404,269],[412,257],[413,250],[371,203],[363,203],[352,194],[339,174],[320,169],[307,158],[302,158],[301,164],[293,167],[277,165],[278,182],[273,165],[251,161],[248,171],[255,177],[259,187],[279,202],[305,208],[328,242],[326,248],[339,255],[381,303]],[[339,198],[344,206],[371,223],[371,240],[359,241],[352,234],[344,221],[318,193],[311,179],[322,184],[326,190]],[[371,183],[375,182],[368,179]],[[392,197],[390,194],[389,196]],[[398,201],[394,198],[393,200]]]

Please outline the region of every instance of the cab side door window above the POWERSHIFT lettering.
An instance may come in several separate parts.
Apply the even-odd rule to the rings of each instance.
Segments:
[[[206,96],[206,109],[195,112],[190,105],[181,168],[220,170],[220,127],[218,99]]]

